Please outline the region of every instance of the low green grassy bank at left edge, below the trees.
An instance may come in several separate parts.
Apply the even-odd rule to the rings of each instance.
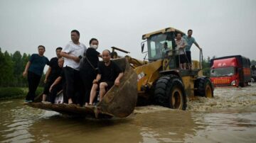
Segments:
[[[14,98],[25,98],[28,88],[20,87],[0,87],[0,101]],[[43,93],[43,87],[38,87],[36,96]]]

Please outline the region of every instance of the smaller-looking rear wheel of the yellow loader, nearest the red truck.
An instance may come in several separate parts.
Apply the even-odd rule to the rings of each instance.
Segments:
[[[195,95],[206,98],[213,98],[213,84],[206,76],[198,77],[195,81]]]

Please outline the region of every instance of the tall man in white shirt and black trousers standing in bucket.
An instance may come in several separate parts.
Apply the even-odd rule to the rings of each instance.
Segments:
[[[60,55],[64,57],[64,65],[63,70],[65,74],[66,88],[65,93],[68,98],[68,104],[78,103],[77,97],[80,97],[80,59],[84,55],[86,51],[86,47],[84,44],[79,42],[80,33],[78,30],[71,31],[71,40],[68,42],[68,45],[62,50]]]

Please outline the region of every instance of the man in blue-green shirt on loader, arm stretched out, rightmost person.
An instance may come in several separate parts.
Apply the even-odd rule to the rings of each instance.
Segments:
[[[194,43],[196,47],[198,47],[199,50],[202,50],[202,48],[198,45],[195,38],[192,37],[193,30],[188,30],[188,35],[184,35],[182,38],[186,40],[187,45],[185,47],[186,50],[186,56],[188,57],[188,69],[191,69],[191,46]]]

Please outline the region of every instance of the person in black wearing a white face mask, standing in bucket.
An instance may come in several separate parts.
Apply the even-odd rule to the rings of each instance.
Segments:
[[[102,57],[100,52],[97,52],[99,41],[92,38],[89,42],[90,47],[86,50],[85,57],[80,67],[80,77],[83,82],[85,91],[83,92],[82,100],[85,105],[89,103],[90,90],[92,88],[92,81],[97,76],[97,64],[99,62],[98,57]]]

